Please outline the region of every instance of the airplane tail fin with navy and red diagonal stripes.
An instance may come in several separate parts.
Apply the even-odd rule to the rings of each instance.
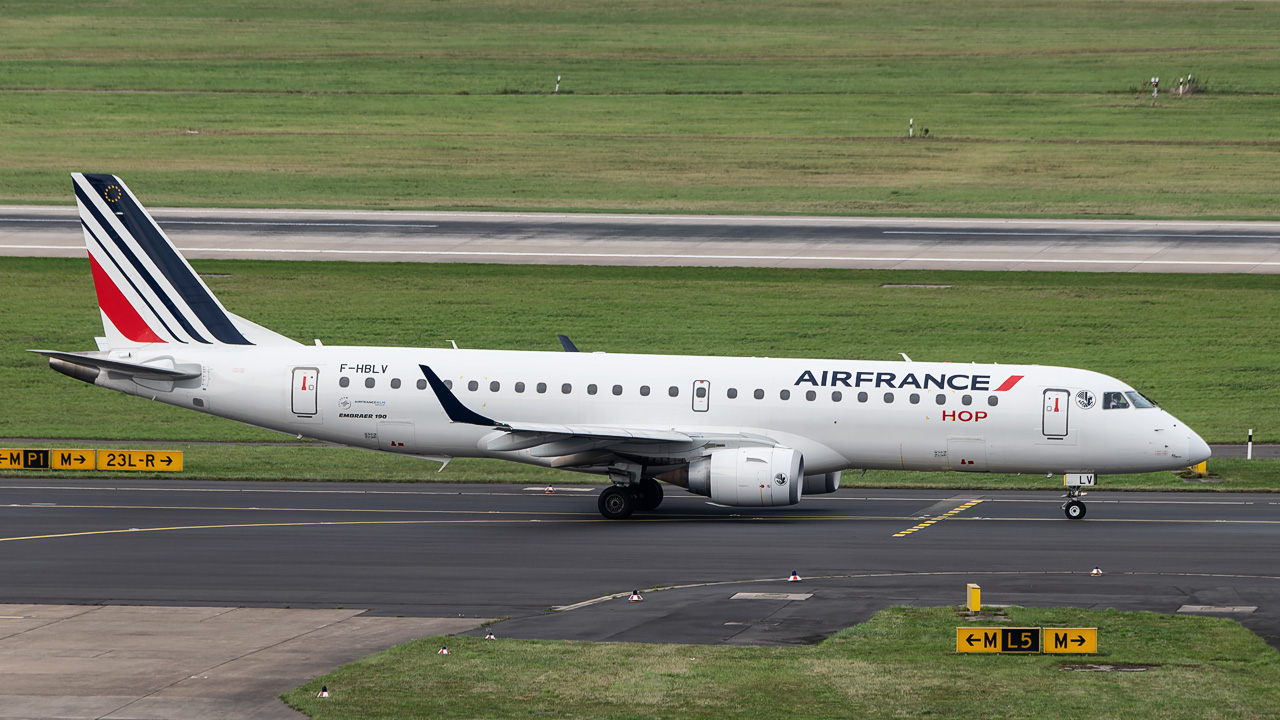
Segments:
[[[228,313],[120,178],[72,178],[109,347],[298,345]]]

